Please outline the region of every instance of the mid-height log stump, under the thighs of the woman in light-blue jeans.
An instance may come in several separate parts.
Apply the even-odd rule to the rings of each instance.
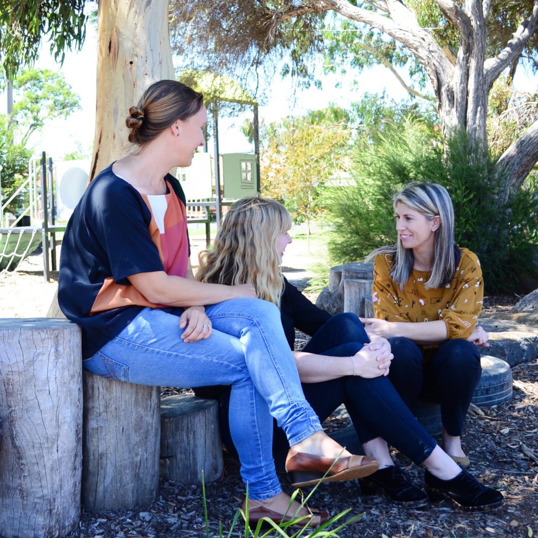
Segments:
[[[151,504],[159,490],[159,387],[83,372],[82,504]]]

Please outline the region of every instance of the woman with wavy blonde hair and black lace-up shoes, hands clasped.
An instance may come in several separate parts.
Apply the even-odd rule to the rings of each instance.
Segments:
[[[331,317],[283,277],[280,264],[291,242],[289,228],[291,218],[278,202],[264,198],[235,202],[217,232],[213,250],[201,253],[196,278],[227,285],[252,284],[258,297],[280,307],[292,349],[294,327],[313,335],[303,351],[293,353],[303,391],[321,420],[345,404],[365,454],[380,462],[380,470],[362,479],[361,487],[381,490],[400,505],[428,504],[427,495],[394,466],[385,439],[426,468],[430,492],[440,493],[468,511],[500,506],[502,495],[459,468],[409,412],[385,377],[387,361],[392,358],[385,339],[374,336],[369,343],[357,316],[344,313]],[[219,397],[221,433],[230,443],[222,413],[229,391],[213,387],[197,393]]]

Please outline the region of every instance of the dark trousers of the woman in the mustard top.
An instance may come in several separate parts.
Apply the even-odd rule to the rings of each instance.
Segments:
[[[394,359],[388,378],[415,413],[420,398],[441,404],[441,419],[447,433],[459,436],[465,414],[480,380],[480,354],[463,339],[440,345],[430,360],[409,338],[390,338]]]

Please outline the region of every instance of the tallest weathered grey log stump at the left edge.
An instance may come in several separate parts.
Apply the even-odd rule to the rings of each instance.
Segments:
[[[80,519],[80,329],[0,320],[0,535],[53,538]]]

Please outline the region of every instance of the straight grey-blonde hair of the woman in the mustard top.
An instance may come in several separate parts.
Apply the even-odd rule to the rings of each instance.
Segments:
[[[440,217],[440,225],[435,231],[434,266],[424,288],[436,289],[450,284],[456,266],[461,258],[461,251],[454,239],[454,209],[450,195],[437,183],[410,183],[392,199],[394,209],[399,203],[418,211],[429,221]],[[395,245],[382,246],[369,254],[371,260],[377,254],[392,256],[391,278],[400,289],[404,288],[413,271],[414,257],[412,249],[406,249],[401,240]]]

